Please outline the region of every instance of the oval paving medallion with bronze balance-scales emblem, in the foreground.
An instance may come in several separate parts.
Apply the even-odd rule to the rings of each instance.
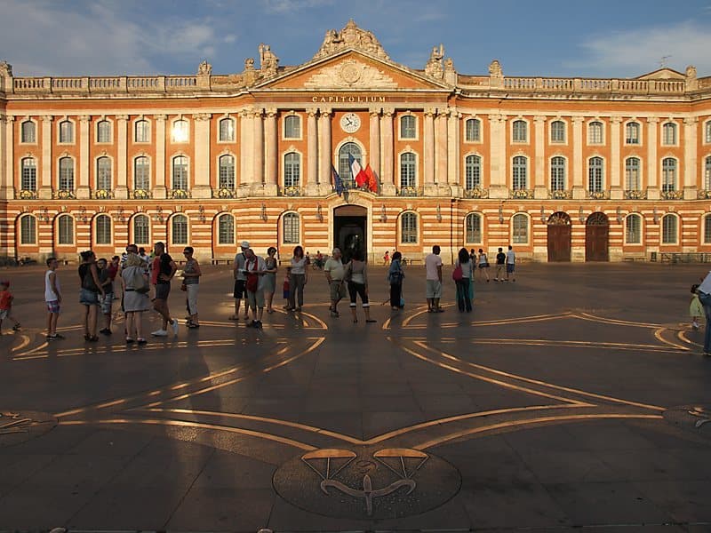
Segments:
[[[459,471],[419,449],[316,449],[274,475],[281,497],[340,518],[399,518],[443,505],[459,492]]]

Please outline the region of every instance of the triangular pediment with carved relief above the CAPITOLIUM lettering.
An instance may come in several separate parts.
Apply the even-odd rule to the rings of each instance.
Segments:
[[[447,84],[390,60],[357,50],[343,50],[311,60],[255,87],[263,90],[443,91]]]

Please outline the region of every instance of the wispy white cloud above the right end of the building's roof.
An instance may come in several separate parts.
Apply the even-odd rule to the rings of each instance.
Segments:
[[[635,77],[656,70],[660,60],[670,56],[670,68],[683,72],[694,65],[699,76],[711,75],[711,33],[692,22],[614,31],[588,38],[582,46],[587,59],[566,62],[566,67],[591,75]]]

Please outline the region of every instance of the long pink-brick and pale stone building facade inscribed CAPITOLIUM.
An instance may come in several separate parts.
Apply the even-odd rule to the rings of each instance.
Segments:
[[[539,261],[711,252],[711,77],[422,70],[349,21],[316,55],[196,76],[14,77],[0,64],[0,256],[126,243],[227,259],[433,244]],[[351,158],[377,187],[356,187]],[[347,189],[334,187],[334,171]]]

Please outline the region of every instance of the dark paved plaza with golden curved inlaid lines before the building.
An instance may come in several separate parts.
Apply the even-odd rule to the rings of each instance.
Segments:
[[[421,266],[393,312],[373,267],[375,324],[330,317],[311,271],[264,330],[206,267],[202,327],[130,347],[120,321],[84,342],[76,267],[48,345],[43,271],[2,272],[0,530],[711,531],[704,265],[524,264],[472,314],[448,268],[427,314]]]

